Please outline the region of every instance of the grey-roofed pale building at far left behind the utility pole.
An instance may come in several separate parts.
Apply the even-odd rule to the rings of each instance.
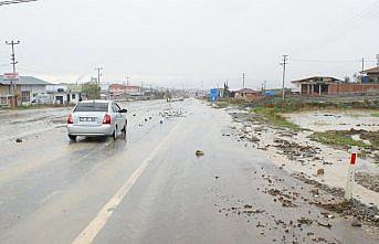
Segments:
[[[17,105],[29,106],[40,95],[46,94],[46,86],[51,83],[32,76],[20,76],[13,83],[0,75],[0,105],[11,106],[13,94],[17,96]]]

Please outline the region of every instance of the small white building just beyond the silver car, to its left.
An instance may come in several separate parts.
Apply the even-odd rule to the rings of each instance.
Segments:
[[[46,87],[51,104],[75,105],[82,100],[82,87],[75,84],[54,84]]]

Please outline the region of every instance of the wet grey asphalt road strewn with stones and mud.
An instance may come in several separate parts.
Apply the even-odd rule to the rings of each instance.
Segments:
[[[222,136],[223,110],[194,99],[124,106],[127,139],[116,141],[70,142],[67,109],[0,114],[0,243],[378,243],[326,220],[303,201],[309,185]]]

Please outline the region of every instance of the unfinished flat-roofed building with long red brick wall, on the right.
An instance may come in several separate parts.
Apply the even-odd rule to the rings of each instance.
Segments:
[[[379,83],[347,83],[329,76],[314,76],[292,83],[299,86],[303,96],[335,96],[379,92]]]

